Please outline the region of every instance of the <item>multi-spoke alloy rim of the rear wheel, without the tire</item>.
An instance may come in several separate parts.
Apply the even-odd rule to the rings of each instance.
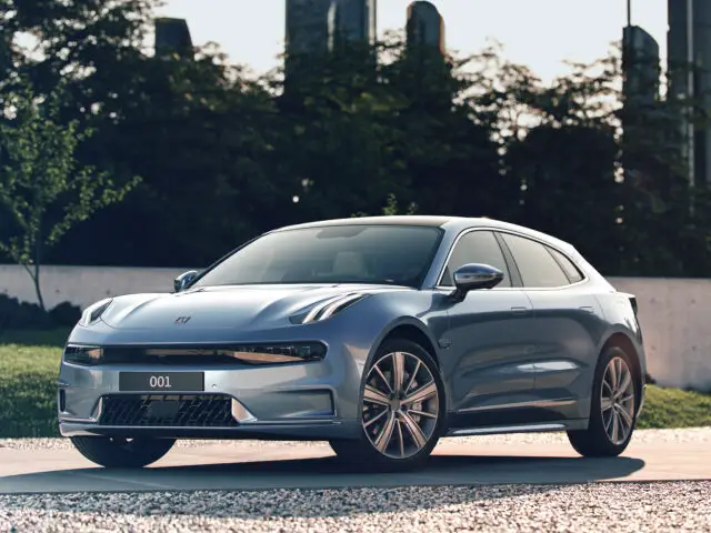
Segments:
[[[634,422],[634,380],[622,358],[608,363],[600,391],[602,424],[608,439],[614,445],[624,443]]]

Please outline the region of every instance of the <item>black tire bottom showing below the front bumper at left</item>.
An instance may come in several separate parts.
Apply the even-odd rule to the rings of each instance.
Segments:
[[[74,447],[92,463],[107,469],[141,469],[166,455],[174,439],[113,439],[72,436]]]

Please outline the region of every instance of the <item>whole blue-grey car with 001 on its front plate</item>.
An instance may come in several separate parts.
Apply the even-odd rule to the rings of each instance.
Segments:
[[[58,418],[106,467],[178,439],[329,441],[358,467],[398,469],[443,436],[565,431],[610,456],[645,373],[634,296],[571,244],[485,218],[353,218],[86,309]]]

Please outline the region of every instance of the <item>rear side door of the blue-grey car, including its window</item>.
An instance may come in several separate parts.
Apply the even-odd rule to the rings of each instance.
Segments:
[[[500,235],[535,313],[538,418],[585,418],[602,310],[565,253],[523,235]]]

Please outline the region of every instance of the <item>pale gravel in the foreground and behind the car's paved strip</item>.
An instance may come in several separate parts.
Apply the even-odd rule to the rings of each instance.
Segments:
[[[500,445],[560,439],[564,435],[498,435],[473,442]],[[645,431],[637,439],[711,443],[711,429]],[[458,441],[469,442],[453,442]],[[8,447],[66,444],[0,441]],[[0,496],[0,531],[711,532],[711,481],[12,495]]]

